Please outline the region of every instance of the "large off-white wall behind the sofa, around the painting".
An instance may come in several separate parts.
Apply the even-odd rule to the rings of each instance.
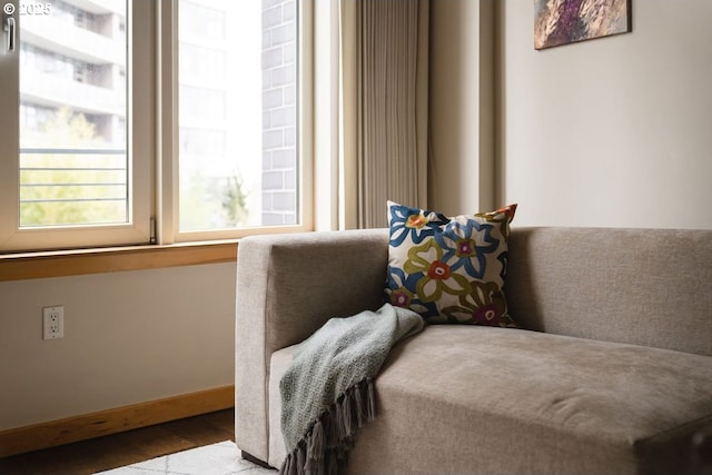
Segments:
[[[632,33],[543,51],[534,2],[500,7],[515,224],[712,228],[712,2],[634,1]]]

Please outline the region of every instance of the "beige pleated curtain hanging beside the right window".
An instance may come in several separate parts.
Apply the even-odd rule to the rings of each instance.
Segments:
[[[428,0],[342,0],[339,228],[427,207]]]

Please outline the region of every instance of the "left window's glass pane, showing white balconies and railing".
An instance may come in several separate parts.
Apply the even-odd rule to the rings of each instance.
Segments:
[[[20,11],[20,226],[127,222],[127,1]]]

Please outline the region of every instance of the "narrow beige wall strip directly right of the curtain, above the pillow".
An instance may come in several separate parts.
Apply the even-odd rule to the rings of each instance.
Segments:
[[[492,0],[431,2],[431,209],[493,206],[493,53]]]

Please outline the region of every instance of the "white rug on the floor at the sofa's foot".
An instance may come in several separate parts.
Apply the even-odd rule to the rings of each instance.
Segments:
[[[243,459],[235,443],[225,441],[99,473],[101,475],[276,475],[277,472]]]

